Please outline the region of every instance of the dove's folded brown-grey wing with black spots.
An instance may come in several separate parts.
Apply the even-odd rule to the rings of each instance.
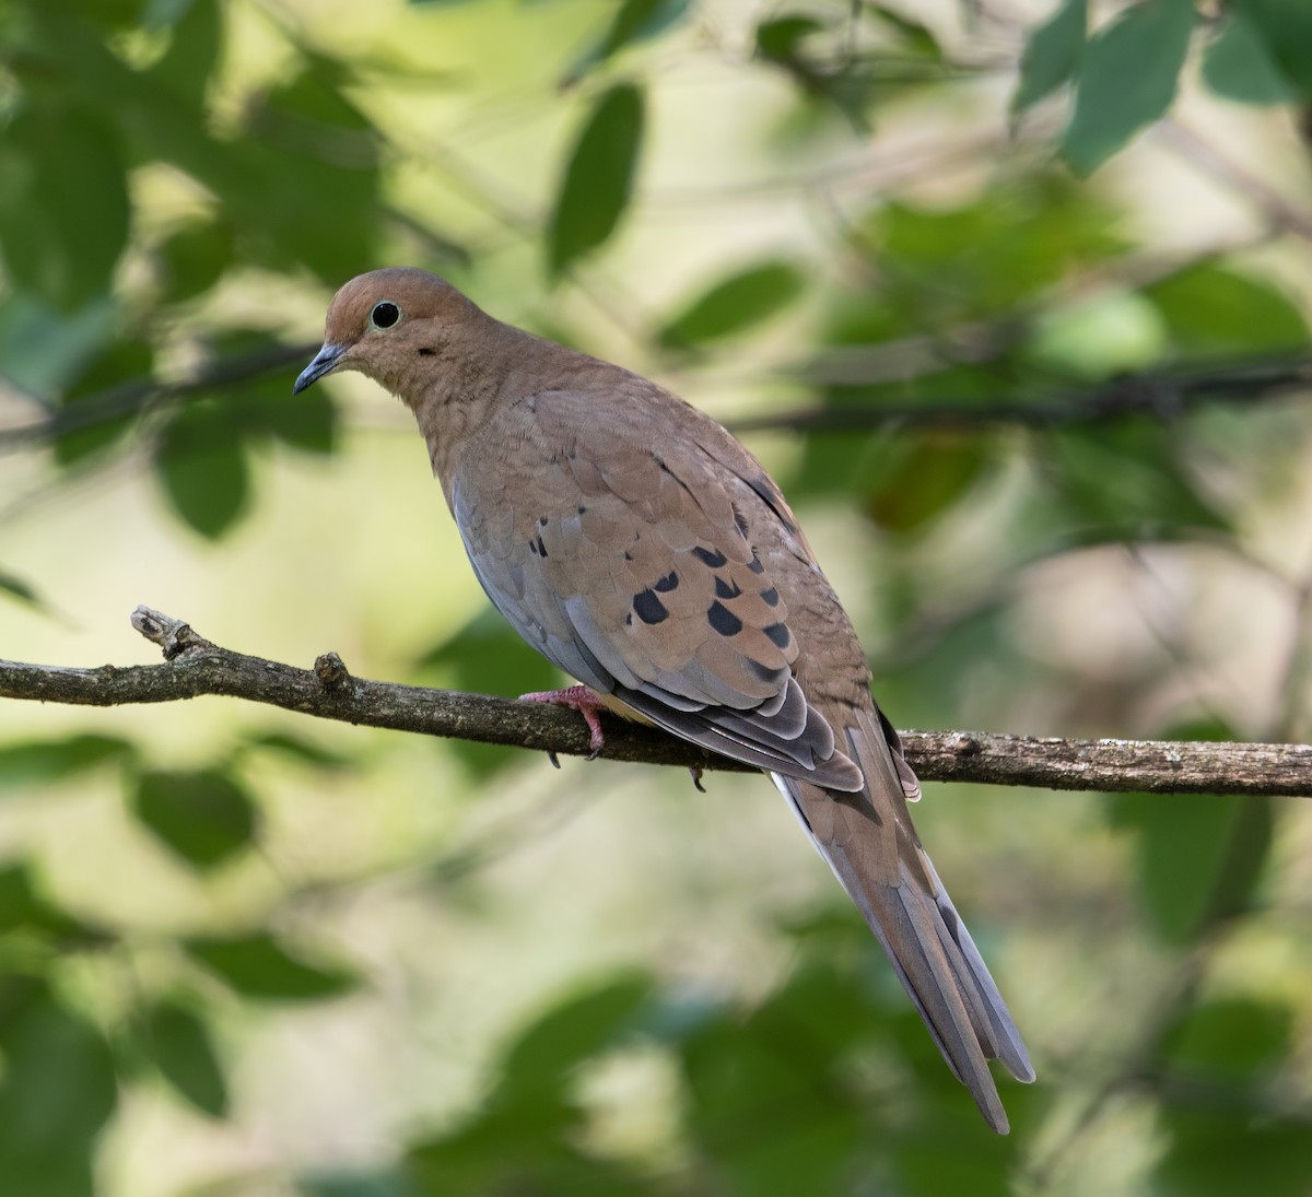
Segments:
[[[677,428],[635,434],[640,407],[568,392],[518,407],[489,444],[500,459],[462,471],[451,508],[479,580],[520,634],[676,735],[859,788],[792,676],[777,564],[732,495],[747,484]]]

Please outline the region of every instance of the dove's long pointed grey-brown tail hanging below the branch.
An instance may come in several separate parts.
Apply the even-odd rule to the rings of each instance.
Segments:
[[[1034,1068],[988,966],[916,836],[907,808],[908,791],[917,793],[914,774],[901,759],[896,732],[874,707],[844,711],[830,723],[840,747],[859,765],[865,788],[848,794],[778,773],[771,774],[774,784],[865,915],[949,1067],[988,1125],[1006,1134],[1006,1112],[987,1062],[1000,1059],[1023,1082],[1034,1080]]]

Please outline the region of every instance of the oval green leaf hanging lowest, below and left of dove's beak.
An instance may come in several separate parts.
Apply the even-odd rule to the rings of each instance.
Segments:
[[[174,513],[201,536],[218,539],[245,512],[245,452],[220,406],[201,400],[178,408],[155,445],[154,466]]]

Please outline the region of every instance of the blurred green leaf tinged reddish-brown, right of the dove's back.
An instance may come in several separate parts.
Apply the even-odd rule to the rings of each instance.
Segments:
[[[891,532],[914,532],[963,499],[991,458],[987,442],[976,436],[904,437],[891,467],[874,480],[866,513]]]

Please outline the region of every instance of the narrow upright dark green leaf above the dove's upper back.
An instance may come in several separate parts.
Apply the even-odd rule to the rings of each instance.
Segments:
[[[552,278],[615,231],[628,207],[642,139],[642,92],[618,84],[597,101],[565,164],[547,226]]]

